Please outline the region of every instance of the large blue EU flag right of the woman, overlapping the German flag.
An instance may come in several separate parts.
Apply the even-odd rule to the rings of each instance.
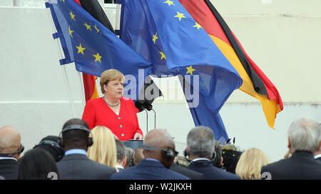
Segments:
[[[121,4],[121,39],[153,64],[151,75],[180,75],[183,89],[199,93],[198,99],[186,98],[195,126],[208,126],[217,140],[227,140],[218,112],[242,79],[218,46],[178,0]]]

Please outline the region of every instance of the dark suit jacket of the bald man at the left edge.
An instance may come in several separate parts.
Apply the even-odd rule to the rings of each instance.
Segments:
[[[16,180],[18,178],[18,161],[12,159],[0,160],[0,175],[6,180]]]

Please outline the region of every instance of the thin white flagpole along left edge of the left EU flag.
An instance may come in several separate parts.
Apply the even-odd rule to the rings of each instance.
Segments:
[[[56,28],[54,26],[54,21],[51,19],[51,15],[50,15],[49,11],[47,11],[47,16],[48,16],[49,20],[51,21],[51,31],[52,31],[53,34],[55,34],[56,33]],[[57,44],[57,48],[58,48],[58,55],[60,56],[60,58],[63,58],[64,57],[63,51],[61,51],[61,45],[59,44],[59,40],[58,39],[56,39],[56,44]],[[60,63],[59,63],[59,66],[61,66]],[[63,73],[63,79],[65,80],[65,84],[66,84],[66,88],[67,88],[69,104],[71,106],[71,112],[73,114],[73,117],[76,118],[77,116],[76,116],[75,106],[73,104],[73,95],[71,93],[71,86],[69,84],[66,67],[64,65],[61,66],[61,71]]]

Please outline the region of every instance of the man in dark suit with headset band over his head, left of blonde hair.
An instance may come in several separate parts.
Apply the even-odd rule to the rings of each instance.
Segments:
[[[93,144],[89,137],[88,124],[78,118],[72,118],[63,125],[59,137],[60,146],[65,149],[65,155],[57,163],[61,179],[76,180],[107,180],[116,169],[108,165],[90,160],[86,151]]]

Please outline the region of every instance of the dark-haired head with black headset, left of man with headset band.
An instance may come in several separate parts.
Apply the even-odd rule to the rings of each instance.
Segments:
[[[39,144],[34,146],[34,148],[41,148],[48,151],[48,153],[54,157],[56,163],[65,155],[65,151],[58,144],[58,136],[46,136],[41,139]]]

